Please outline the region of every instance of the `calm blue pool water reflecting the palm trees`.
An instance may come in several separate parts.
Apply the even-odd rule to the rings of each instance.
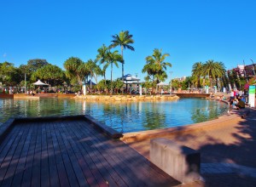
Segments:
[[[90,115],[120,133],[184,126],[224,115],[228,105],[206,99],[91,102],[78,99],[0,99],[0,125],[9,117]]]

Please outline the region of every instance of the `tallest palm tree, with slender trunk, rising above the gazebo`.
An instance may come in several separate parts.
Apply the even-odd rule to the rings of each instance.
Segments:
[[[115,34],[112,37],[113,37],[113,40],[111,42],[113,42],[113,43],[109,47],[115,48],[117,46],[120,46],[123,59],[124,59],[123,50],[125,48],[129,48],[132,51],[134,51],[134,48],[130,45],[131,43],[134,43],[134,41],[132,39],[132,35],[129,34],[129,31],[120,31],[119,35]],[[125,64],[125,61],[123,60],[123,62],[122,62],[122,77],[124,77],[124,64]]]

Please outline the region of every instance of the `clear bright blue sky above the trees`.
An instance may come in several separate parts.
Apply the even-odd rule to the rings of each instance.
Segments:
[[[255,9],[253,0],[0,0],[0,62],[40,58],[63,69],[71,56],[95,59],[103,43],[128,30],[135,51],[124,51],[125,74],[143,79],[154,48],[170,54],[172,78],[208,59],[231,69],[256,62]],[[120,76],[121,65],[113,70]]]

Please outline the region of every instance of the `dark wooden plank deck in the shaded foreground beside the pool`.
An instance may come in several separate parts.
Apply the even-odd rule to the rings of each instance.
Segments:
[[[18,122],[0,144],[0,186],[179,184],[84,120]]]

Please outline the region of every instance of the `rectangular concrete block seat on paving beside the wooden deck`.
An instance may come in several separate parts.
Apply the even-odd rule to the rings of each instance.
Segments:
[[[150,140],[150,161],[184,184],[200,180],[200,153],[169,139]]]

